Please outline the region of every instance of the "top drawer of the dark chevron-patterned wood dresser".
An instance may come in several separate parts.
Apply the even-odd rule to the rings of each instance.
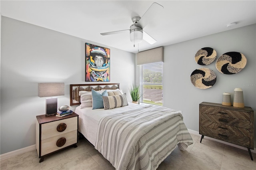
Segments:
[[[202,106],[201,112],[209,115],[216,115],[216,116],[250,121],[250,112],[234,111],[229,109],[206,107],[206,106]]]

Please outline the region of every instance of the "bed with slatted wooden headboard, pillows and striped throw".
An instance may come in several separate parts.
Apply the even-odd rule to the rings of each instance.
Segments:
[[[104,96],[103,108],[94,108],[95,94]],[[78,131],[117,170],[156,169],[177,145],[193,143],[180,111],[128,103],[119,83],[70,85],[70,105],[79,105]]]

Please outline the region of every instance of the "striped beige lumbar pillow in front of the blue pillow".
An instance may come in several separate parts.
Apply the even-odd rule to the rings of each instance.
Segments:
[[[125,94],[115,96],[102,96],[102,99],[105,110],[128,105],[128,101]]]

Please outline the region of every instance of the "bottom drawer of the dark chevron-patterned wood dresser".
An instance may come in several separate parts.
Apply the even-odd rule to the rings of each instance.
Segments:
[[[240,136],[239,134],[230,133],[230,132],[220,132],[212,128],[202,127],[201,132],[204,135],[207,135],[212,138],[219,140],[224,140],[233,144],[237,144],[246,148],[250,148],[250,138],[246,136]]]

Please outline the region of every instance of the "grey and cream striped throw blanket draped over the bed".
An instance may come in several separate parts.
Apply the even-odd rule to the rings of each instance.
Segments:
[[[153,170],[193,140],[178,111],[144,106],[100,120],[95,148],[117,170]]]

